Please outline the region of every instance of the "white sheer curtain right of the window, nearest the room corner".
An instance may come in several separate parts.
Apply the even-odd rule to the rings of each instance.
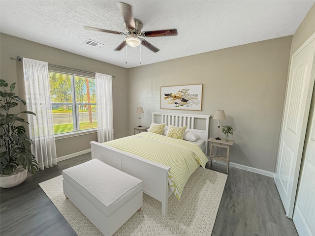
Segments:
[[[104,143],[113,136],[112,76],[95,73],[97,106],[97,142]]]

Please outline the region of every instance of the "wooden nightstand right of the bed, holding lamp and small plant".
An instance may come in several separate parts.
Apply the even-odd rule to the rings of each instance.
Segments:
[[[210,143],[210,160],[209,160],[210,165],[212,164],[212,159],[224,161],[226,162],[226,173],[228,173],[228,168],[230,164],[230,146],[233,145],[234,140],[225,141],[225,139],[217,140],[215,138],[210,138],[208,139],[208,141]],[[226,148],[227,149],[226,157],[213,155],[214,147]]]

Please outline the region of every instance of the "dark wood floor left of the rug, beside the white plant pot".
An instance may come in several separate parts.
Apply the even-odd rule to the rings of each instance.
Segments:
[[[76,236],[38,183],[62,175],[71,166],[91,160],[91,153],[64,160],[29,174],[13,188],[0,189],[0,236]]]

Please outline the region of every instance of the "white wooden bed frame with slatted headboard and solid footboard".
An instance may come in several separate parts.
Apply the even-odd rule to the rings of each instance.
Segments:
[[[194,142],[186,142],[197,144],[205,155],[208,154],[207,142],[210,116],[152,112],[152,122],[165,123],[166,129],[171,125],[177,127],[187,126],[186,131],[193,132],[200,138]],[[143,181],[143,192],[161,202],[161,214],[166,216],[168,198],[173,193],[169,187],[169,173],[171,170],[169,166],[94,141],[91,142],[91,150],[92,159],[97,158],[131,176],[141,179]]]

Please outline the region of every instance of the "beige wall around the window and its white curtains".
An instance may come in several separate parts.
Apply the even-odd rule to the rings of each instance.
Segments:
[[[129,127],[128,104],[122,102],[128,100],[127,69],[2,33],[0,34],[0,52],[0,78],[9,84],[16,82],[18,86],[16,92],[21,97],[25,97],[22,61],[17,61],[17,56],[115,76],[113,79],[114,138],[128,135],[126,131]],[[26,107],[19,107],[26,110]],[[56,140],[57,156],[89,149],[91,148],[90,141],[93,140],[97,140],[96,133]]]

